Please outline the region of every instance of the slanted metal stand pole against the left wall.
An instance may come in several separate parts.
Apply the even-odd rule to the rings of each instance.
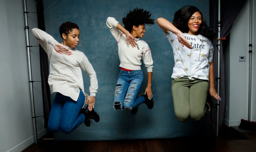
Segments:
[[[34,142],[37,143],[37,128],[36,128],[36,114],[34,110],[34,93],[33,93],[33,81],[32,81],[32,71],[31,71],[31,59],[30,59],[30,43],[29,43],[29,34],[28,34],[28,20],[27,20],[27,2],[23,0],[23,9],[24,9],[24,19],[25,19],[25,33],[26,33],[26,47],[27,47],[27,64],[28,64],[28,77],[29,77],[29,86],[30,86],[30,102],[31,102],[31,111],[32,111],[32,120],[33,120],[33,131],[34,131]]]

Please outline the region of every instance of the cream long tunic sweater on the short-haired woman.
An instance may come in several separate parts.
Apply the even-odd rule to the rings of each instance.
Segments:
[[[80,90],[84,92],[81,71],[83,69],[90,77],[90,95],[96,96],[98,89],[96,73],[83,52],[65,46],[70,49],[72,55],[59,54],[54,50],[58,42],[51,35],[38,28],[33,28],[32,34],[48,55],[50,68],[48,84],[52,93],[59,92],[77,101]]]

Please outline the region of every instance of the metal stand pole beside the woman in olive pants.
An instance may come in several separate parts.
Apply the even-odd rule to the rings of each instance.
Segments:
[[[217,76],[217,94],[220,94],[220,41],[221,38],[221,21],[220,21],[220,0],[218,0],[218,76]],[[216,136],[219,136],[219,100],[217,100],[217,122],[216,122]]]

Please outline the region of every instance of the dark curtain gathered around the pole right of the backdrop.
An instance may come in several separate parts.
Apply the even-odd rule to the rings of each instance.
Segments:
[[[221,23],[221,36],[220,38],[228,38],[230,29],[233,25],[233,22],[236,16],[239,14],[242,7],[245,5],[246,0],[220,0],[220,23]],[[210,26],[218,36],[218,0],[210,0]],[[225,39],[223,41],[229,41]],[[215,88],[217,90],[217,80],[220,81],[220,92],[219,96],[222,98],[219,105],[219,128],[222,127],[223,118],[224,118],[224,109],[225,109],[225,75],[224,75],[224,60],[223,60],[223,43],[220,41],[220,50],[218,50],[218,41],[214,39],[214,54],[213,54],[213,63],[214,63],[214,78],[215,78]],[[225,51],[225,50],[224,50]],[[220,78],[218,78],[218,52],[220,52]],[[216,133],[217,129],[217,100],[213,100],[213,107],[210,112],[211,119],[211,131]]]

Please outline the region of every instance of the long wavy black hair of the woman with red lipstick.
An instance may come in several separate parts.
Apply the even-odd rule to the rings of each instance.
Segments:
[[[201,34],[213,41],[216,34],[213,32],[212,28],[206,25],[206,18],[204,17],[203,13],[199,11],[199,9],[195,6],[183,6],[180,10],[175,12],[174,19],[172,20],[174,26],[181,30],[182,33],[187,33],[189,31],[187,23],[194,12],[199,12],[202,16],[202,23],[199,26],[198,34]]]

